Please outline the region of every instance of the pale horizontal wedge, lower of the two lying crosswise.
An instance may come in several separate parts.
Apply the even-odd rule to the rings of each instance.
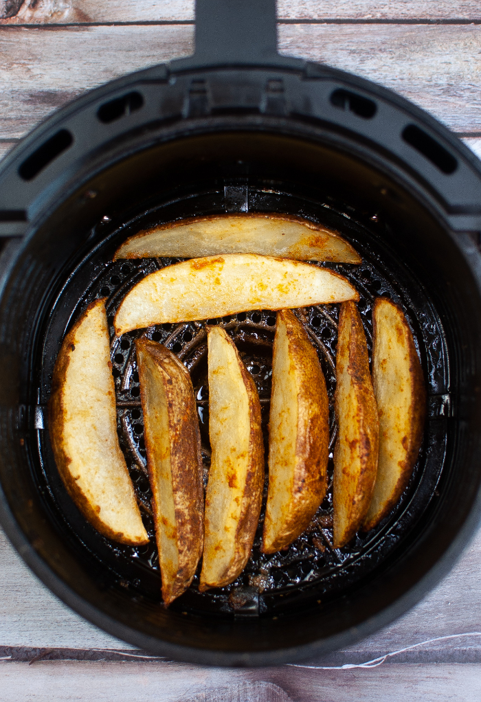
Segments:
[[[147,275],[125,296],[114,327],[120,336],[164,322],[358,299],[350,282],[327,268],[231,253],[192,258]]]

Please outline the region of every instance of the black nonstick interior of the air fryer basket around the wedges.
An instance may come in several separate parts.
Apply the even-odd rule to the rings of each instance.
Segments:
[[[374,297],[386,294],[402,306],[428,388],[426,432],[411,482],[378,529],[331,550],[328,497],[310,534],[288,552],[261,556],[257,544],[232,586],[201,595],[193,583],[164,609],[154,546],[139,550],[108,541],[67,496],[51,454],[46,404],[62,338],[86,305],[107,296],[111,323],[115,305],[135,279],[169,263],[112,263],[121,241],[157,223],[226,211],[304,216],[352,242],[362,256],[360,266],[322,265],[348,276],[360,291],[368,340]],[[481,303],[469,258],[474,247],[468,235],[454,239],[428,199],[400,185],[383,164],[349,152],[342,138],[338,145],[329,143],[310,126],[282,134],[268,128],[259,133],[258,124],[244,124],[241,131],[207,125],[204,133],[173,134],[103,166],[18,248],[0,300],[9,369],[2,387],[0,479],[2,519],[11,538],[74,609],[114,635],[178,659],[275,664],[348,644],[392,621],[444,574],[479,514],[481,412],[475,388],[481,387]],[[317,347],[332,397],[332,369],[322,344],[334,360],[337,306],[301,314],[312,340],[321,342]],[[237,334],[268,399],[272,313],[248,317],[219,323]],[[162,327],[147,333],[179,355],[185,352],[188,364],[194,351],[185,345],[195,325],[176,338],[173,331]],[[148,486],[134,465],[142,449],[140,411],[133,406],[135,367],[125,389],[119,387],[139,333],[114,342],[112,362],[117,399],[124,403],[121,442],[148,510]],[[205,421],[203,364],[201,359],[192,379]],[[204,458],[208,467],[207,452]]]

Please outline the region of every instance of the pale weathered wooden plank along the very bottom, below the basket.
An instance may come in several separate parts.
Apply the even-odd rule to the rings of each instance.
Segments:
[[[480,665],[374,670],[198,668],[163,663],[3,663],[2,702],[477,702]]]

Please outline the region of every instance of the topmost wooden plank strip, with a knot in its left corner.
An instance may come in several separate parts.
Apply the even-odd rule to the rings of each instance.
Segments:
[[[2,12],[3,9],[3,12]],[[10,16],[5,16],[10,15]],[[0,0],[0,22],[192,22],[193,0]],[[480,20],[477,0],[278,0],[282,20]]]

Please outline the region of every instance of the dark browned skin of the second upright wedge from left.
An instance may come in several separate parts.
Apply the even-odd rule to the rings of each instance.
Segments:
[[[152,487],[152,507],[162,574],[162,599],[168,606],[192,583],[204,547],[203,465],[197,405],[190,374],[176,355],[156,341],[145,338],[136,340],[136,352],[140,377],[140,400],[144,415],[147,470]],[[147,416],[148,381],[142,362],[143,354],[148,354],[159,369],[166,399],[171,484],[176,519],[176,524],[171,525],[171,533],[174,535],[178,550],[178,571],[173,580],[162,567],[159,524],[161,521],[166,522],[166,517],[162,511],[162,496],[154,465],[155,448],[162,437],[150,433]]]

